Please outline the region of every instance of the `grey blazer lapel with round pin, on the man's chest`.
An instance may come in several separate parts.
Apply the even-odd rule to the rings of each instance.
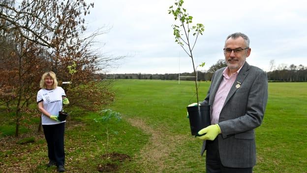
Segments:
[[[229,99],[232,97],[232,95],[237,91],[238,88],[236,88],[236,85],[238,84],[238,82],[240,82],[239,84],[242,84],[244,79],[246,78],[247,74],[248,74],[248,70],[249,70],[249,65],[247,64],[247,62],[245,62],[245,64],[243,65],[242,69],[240,70],[235,82],[232,84],[230,91],[226,97],[226,100],[224,102],[224,105],[229,101]],[[223,107],[224,107],[223,105]]]

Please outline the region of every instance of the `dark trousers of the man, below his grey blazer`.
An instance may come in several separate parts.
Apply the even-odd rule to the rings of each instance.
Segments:
[[[252,173],[252,168],[229,168],[221,164],[218,138],[206,141],[206,173]]]

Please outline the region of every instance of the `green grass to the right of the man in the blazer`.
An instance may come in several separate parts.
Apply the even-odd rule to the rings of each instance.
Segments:
[[[269,101],[256,131],[255,171],[307,172],[307,83],[269,83]]]

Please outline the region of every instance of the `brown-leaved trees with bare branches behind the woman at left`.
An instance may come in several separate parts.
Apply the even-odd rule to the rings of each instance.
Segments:
[[[1,40],[10,43],[2,47],[9,53],[1,61],[7,62],[7,67],[12,67],[1,68],[0,74],[14,76],[13,80],[7,75],[0,76],[0,101],[5,102],[7,99],[4,95],[1,97],[1,93],[5,92],[2,90],[12,88],[6,92],[14,96],[15,136],[18,136],[21,112],[25,111],[29,101],[36,95],[39,78],[44,71],[55,71],[61,82],[71,78],[67,67],[76,63],[74,88],[89,83],[93,74],[101,70],[103,65],[118,59],[104,57],[91,50],[94,37],[104,31],[98,30],[88,37],[83,36],[86,31],[84,17],[90,14],[93,5],[87,4],[85,0],[22,0],[18,4],[14,0],[0,0]],[[95,101],[91,101],[98,105],[105,104],[99,100],[102,94],[97,94]],[[112,100],[111,93],[108,97]]]

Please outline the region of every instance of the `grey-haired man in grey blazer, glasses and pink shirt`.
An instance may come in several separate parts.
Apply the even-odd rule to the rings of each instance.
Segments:
[[[200,130],[207,173],[252,173],[256,164],[254,129],[261,125],[267,100],[267,74],[246,62],[251,49],[242,33],[229,35],[227,67],[215,71],[204,102],[211,105],[211,124]]]

